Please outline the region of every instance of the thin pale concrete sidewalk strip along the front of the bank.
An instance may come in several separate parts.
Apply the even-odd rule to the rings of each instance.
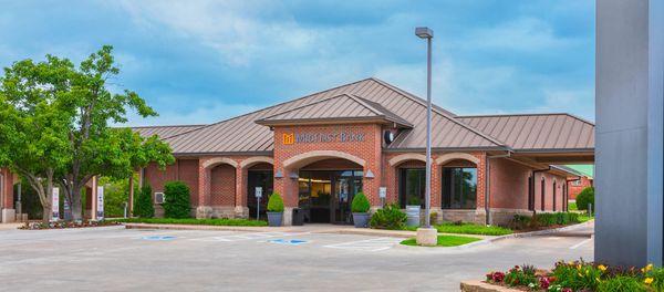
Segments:
[[[373,237],[395,237],[413,238],[415,231],[407,230],[383,230],[371,228],[355,228],[353,226],[335,225],[304,225],[304,226],[283,226],[283,227],[248,227],[248,226],[197,226],[197,225],[151,225],[151,223],[124,223],[127,229],[172,229],[172,230],[226,230],[226,231],[252,231],[252,232],[309,232],[309,233],[333,233],[333,234],[357,234]],[[450,234],[446,236],[468,236],[480,239],[496,238],[491,236],[476,234]]]

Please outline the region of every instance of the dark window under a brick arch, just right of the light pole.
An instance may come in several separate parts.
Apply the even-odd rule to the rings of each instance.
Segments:
[[[477,204],[477,168],[443,168],[443,208],[475,209]]]

